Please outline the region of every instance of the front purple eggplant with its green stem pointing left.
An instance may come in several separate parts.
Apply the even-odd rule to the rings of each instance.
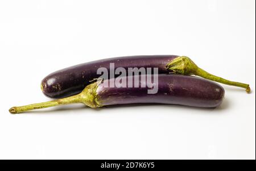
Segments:
[[[116,82],[119,77],[97,81],[86,86],[80,94],[50,102],[12,107],[9,111],[11,114],[16,114],[71,103],[84,103],[92,108],[131,103],[162,103],[209,108],[217,107],[224,98],[225,91],[222,86],[203,78],[177,74],[159,74],[158,81],[154,84],[148,84],[150,82],[149,78],[153,80],[154,76],[150,75],[144,80],[142,75],[137,77],[139,78],[138,87],[135,87],[135,81],[133,81],[131,87],[123,85],[121,87],[117,85],[109,86],[111,81]],[[129,82],[131,79],[135,80],[135,77],[122,78]],[[149,94],[148,90],[152,90],[154,87],[157,87],[158,91]]]

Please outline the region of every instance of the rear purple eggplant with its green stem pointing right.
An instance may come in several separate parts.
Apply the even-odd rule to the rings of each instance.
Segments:
[[[71,66],[49,74],[42,80],[41,89],[47,97],[61,98],[81,93],[85,86],[98,78],[97,69],[105,67],[110,70],[110,63],[115,68],[158,68],[158,73],[174,73],[183,75],[196,75],[222,84],[243,87],[250,92],[248,84],[225,80],[214,76],[199,68],[189,57],[176,55],[152,55],[152,56],[126,56],[110,59],[86,62]],[[115,77],[117,77],[116,75]]]

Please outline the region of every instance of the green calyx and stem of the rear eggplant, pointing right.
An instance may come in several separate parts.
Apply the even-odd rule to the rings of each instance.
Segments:
[[[220,82],[222,84],[231,85],[231,86],[238,86],[246,89],[247,93],[250,93],[250,86],[248,84],[243,84],[241,82],[234,82],[225,80],[224,78],[214,76],[206,72],[205,70],[199,68],[195,62],[193,62],[187,56],[179,56],[176,59],[172,60],[170,63],[166,65],[167,70],[174,74],[183,74],[186,76],[200,76],[206,78],[208,80]]]

